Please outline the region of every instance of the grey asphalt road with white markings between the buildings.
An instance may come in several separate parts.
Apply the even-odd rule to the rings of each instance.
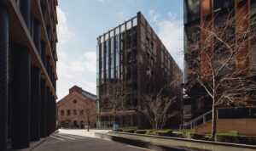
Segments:
[[[78,135],[56,133],[46,139],[33,151],[145,151],[124,143],[116,143],[96,137],[82,137]]]

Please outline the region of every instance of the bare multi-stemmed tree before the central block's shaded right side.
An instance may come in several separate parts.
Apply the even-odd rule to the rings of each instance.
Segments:
[[[173,109],[173,107],[177,105],[177,95],[182,96],[182,78],[177,77],[176,79],[172,79],[172,82],[167,82],[168,84],[162,87],[160,92],[156,94],[143,95],[141,99],[142,103],[138,106],[138,111],[146,116],[150,125],[155,130],[162,129],[170,118],[181,114],[180,110]]]

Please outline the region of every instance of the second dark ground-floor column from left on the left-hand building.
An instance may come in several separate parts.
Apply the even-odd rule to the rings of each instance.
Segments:
[[[13,48],[12,148],[27,148],[30,142],[31,55],[29,48]]]

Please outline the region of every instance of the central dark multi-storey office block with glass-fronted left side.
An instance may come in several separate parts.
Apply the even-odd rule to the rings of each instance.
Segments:
[[[145,20],[141,12],[97,38],[97,127],[113,126],[112,111],[104,109],[102,94],[108,82],[122,81],[131,91],[127,105],[136,107],[143,94],[159,92],[167,80],[182,77],[183,72],[166,50],[160,38]],[[180,81],[182,83],[182,81]],[[176,92],[178,111],[182,109],[182,89]],[[135,110],[117,112],[120,127],[147,127],[145,117]],[[175,119],[175,120],[174,120]],[[172,126],[178,125],[180,117],[173,118]]]

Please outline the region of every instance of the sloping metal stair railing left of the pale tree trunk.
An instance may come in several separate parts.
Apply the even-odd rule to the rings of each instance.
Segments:
[[[183,125],[179,126],[179,129],[180,131],[182,131],[183,129],[193,129],[195,128],[195,126],[205,124],[208,120],[212,120],[212,110],[201,116],[196,117],[194,120],[184,122]]]

